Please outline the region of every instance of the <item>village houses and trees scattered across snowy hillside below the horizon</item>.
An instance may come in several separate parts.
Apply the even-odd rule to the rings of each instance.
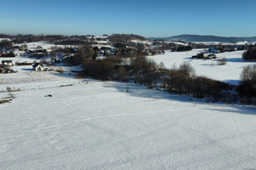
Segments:
[[[31,65],[34,71],[53,71],[49,65],[79,65],[84,59],[106,59],[109,56],[122,58],[138,55],[165,54],[166,50],[189,51],[192,48],[204,48],[192,59],[216,59],[218,53],[247,49],[249,42],[183,42],[150,41],[137,35],[111,36],[33,36],[2,35],[0,44],[0,72],[15,73],[10,66]],[[79,56],[79,55],[83,56]],[[22,58],[20,60],[20,58]],[[27,59],[27,60],[26,60]]]

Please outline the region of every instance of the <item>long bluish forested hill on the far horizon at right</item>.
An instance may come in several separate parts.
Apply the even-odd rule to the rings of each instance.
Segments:
[[[199,35],[179,35],[173,37],[149,37],[150,40],[163,39],[166,41],[185,41],[185,42],[255,42],[256,37],[218,37],[218,36],[199,36]]]

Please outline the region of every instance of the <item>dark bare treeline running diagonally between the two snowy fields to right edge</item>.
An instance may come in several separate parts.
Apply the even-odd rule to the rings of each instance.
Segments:
[[[241,73],[241,83],[230,85],[207,77],[195,75],[189,61],[178,68],[166,69],[163,63],[156,64],[145,56],[122,59],[109,56],[92,59],[96,51],[84,49],[73,56],[73,64],[82,65],[82,74],[101,80],[135,82],[148,88],[158,88],[169,93],[184,94],[208,101],[241,104],[256,104],[256,65],[247,66]],[[86,54],[86,55],[85,55]]]

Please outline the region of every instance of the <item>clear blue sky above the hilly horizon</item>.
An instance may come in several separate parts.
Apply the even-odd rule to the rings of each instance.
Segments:
[[[0,0],[0,33],[256,36],[256,0]]]

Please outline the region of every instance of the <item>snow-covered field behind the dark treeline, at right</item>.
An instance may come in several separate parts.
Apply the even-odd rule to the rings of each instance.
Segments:
[[[178,67],[183,61],[189,61],[195,68],[197,76],[205,76],[231,84],[238,84],[244,66],[255,64],[255,62],[243,61],[241,59],[241,54],[244,51],[216,54],[218,59],[223,57],[227,59],[226,65],[218,65],[218,59],[191,59],[193,55],[203,51],[203,49],[193,49],[188,52],[166,51],[166,54],[148,56],[148,58],[154,59],[157,63],[163,62],[167,68],[172,68],[173,65]]]

